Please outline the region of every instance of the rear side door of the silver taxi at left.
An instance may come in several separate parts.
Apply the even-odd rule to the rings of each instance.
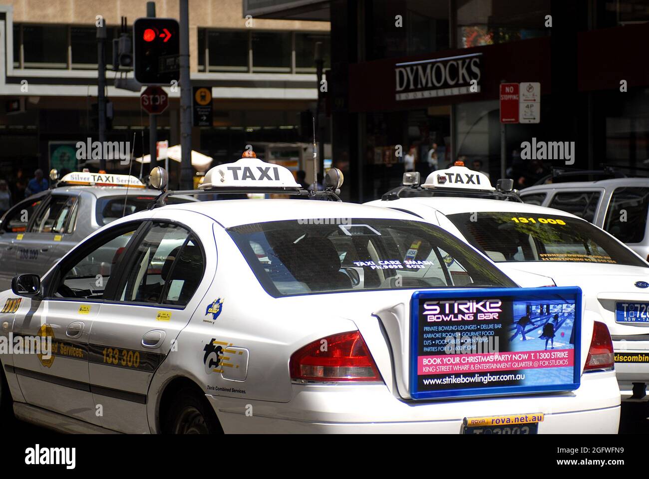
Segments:
[[[53,194],[36,212],[34,221],[16,245],[18,273],[42,276],[58,259],[56,245],[67,233],[68,223],[76,211],[77,196]]]

